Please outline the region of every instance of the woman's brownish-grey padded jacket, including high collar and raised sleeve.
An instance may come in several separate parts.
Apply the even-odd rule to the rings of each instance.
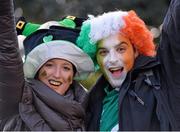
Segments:
[[[24,79],[13,0],[0,0],[0,130],[84,130],[85,90],[73,81],[64,96]]]

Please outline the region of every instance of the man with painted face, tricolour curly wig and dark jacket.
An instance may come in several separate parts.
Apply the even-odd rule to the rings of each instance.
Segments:
[[[109,12],[85,21],[77,43],[103,73],[89,93],[87,130],[180,129],[174,115],[178,109],[171,102],[178,101],[173,95],[180,86],[169,86],[152,34],[134,11]]]

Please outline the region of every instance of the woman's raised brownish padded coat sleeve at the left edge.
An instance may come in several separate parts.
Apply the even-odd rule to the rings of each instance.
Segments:
[[[18,111],[24,85],[13,0],[0,0],[0,120]]]

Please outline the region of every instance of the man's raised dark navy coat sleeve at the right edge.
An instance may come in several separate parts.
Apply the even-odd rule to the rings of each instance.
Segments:
[[[180,0],[171,0],[163,21],[158,56],[162,64],[162,85],[168,87],[168,99],[180,130]]]

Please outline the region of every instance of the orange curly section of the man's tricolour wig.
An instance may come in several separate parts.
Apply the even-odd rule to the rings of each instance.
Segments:
[[[140,54],[145,56],[155,56],[155,44],[152,33],[148,30],[145,23],[136,15],[134,11],[129,11],[124,16],[126,26],[121,30],[127,36]]]

